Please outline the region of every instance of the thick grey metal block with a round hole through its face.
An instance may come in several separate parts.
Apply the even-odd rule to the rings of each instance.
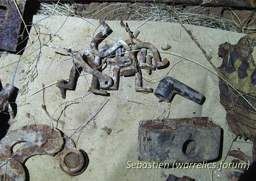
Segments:
[[[219,157],[221,127],[206,117],[143,120],[138,137],[140,161],[195,163]]]

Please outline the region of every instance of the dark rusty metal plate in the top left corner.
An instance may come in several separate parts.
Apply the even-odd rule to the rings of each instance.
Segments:
[[[0,49],[15,52],[27,0],[0,0]],[[18,6],[19,12],[17,10]]]

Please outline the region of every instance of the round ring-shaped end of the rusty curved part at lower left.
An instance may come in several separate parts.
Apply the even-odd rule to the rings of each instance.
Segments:
[[[86,170],[89,159],[86,152],[77,149],[75,143],[67,138],[65,148],[60,155],[59,165],[63,172],[75,176]]]

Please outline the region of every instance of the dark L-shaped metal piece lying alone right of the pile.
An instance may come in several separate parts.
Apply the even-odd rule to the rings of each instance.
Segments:
[[[179,94],[180,96],[198,104],[203,104],[205,101],[204,95],[173,77],[163,78],[159,82],[154,94],[160,101],[167,102],[172,101],[175,94]]]

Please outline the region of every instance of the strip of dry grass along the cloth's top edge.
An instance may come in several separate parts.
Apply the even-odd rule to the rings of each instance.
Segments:
[[[102,5],[102,4],[101,4]],[[118,3],[110,4],[106,7],[99,5],[94,10],[87,11],[86,8],[80,8],[81,4],[46,4],[42,3],[39,15],[61,15],[61,16],[79,16],[94,18],[97,14],[102,15],[102,19],[111,20],[114,14],[129,14],[127,20],[146,20],[146,21],[162,21],[162,22],[179,22],[174,12],[179,16],[180,21],[183,24],[197,25],[215,29],[228,30],[233,32],[256,32],[256,26],[251,26],[250,23],[245,24],[244,27],[241,25],[241,21],[238,16],[230,9],[230,15],[233,18],[228,20],[220,16],[212,16],[208,13],[196,14],[204,7],[188,7],[188,8],[177,8],[160,3],[147,3],[147,4],[127,4]],[[75,8],[74,8],[75,7]],[[78,8],[77,8],[78,7]],[[102,13],[104,12],[104,13]],[[122,16],[120,17],[122,18]],[[242,27],[241,27],[242,26]],[[246,26],[246,27],[245,27]]]

